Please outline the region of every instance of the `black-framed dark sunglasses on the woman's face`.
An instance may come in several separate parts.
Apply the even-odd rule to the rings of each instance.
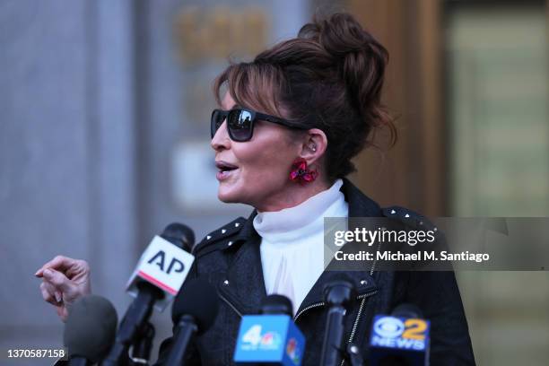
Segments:
[[[213,109],[212,121],[210,125],[212,138],[219,127],[222,126],[225,119],[227,119],[227,131],[229,132],[229,137],[231,137],[232,141],[237,141],[239,143],[249,141],[252,138],[254,135],[254,125],[257,120],[267,121],[289,128],[303,130],[309,129],[304,126],[292,124],[292,122],[286,119],[269,116],[251,109]]]

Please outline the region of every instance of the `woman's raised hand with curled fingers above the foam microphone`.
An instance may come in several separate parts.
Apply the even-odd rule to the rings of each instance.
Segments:
[[[90,266],[80,259],[57,256],[36,271],[42,279],[40,291],[45,301],[52,304],[63,321],[76,299],[92,293]]]

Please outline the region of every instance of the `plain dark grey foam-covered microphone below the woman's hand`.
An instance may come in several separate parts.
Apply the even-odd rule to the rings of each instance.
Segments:
[[[80,366],[99,362],[109,352],[117,324],[117,310],[107,299],[86,295],[74,301],[63,333],[68,364]]]

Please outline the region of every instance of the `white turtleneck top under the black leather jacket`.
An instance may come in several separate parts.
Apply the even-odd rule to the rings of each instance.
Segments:
[[[254,228],[261,236],[261,265],[268,295],[287,296],[293,313],[324,271],[324,217],[347,217],[349,205],[332,187],[300,205],[277,212],[257,213]]]

